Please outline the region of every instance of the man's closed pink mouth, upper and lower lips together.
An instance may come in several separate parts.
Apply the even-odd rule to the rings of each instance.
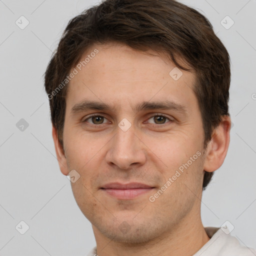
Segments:
[[[150,185],[142,184],[142,183],[128,183],[128,184],[122,184],[122,183],[108,183],[105,184],[103,187],[100,187],[100,189],[105,192],[107,195],[110,195],[116,199],[134,199],[138,197],[139,195],[145,194],[149,191],[152,191],[152,189],[155,188]]]

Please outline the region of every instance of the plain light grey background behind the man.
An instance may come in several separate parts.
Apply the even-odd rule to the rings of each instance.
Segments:
[[[42,75],[68,20],[96,2],[0,0],[2,256],[85,255],[95,245],[55,158]],[[256,0],[182,2],[206,15],[231,57],[234,125],[226,159],[203,192],[202,221],[220,226],[228,220],[241,244],[256,247]],[[21,15],[29,21],[24,29],[15,24]],[[234,21],[229,29],[222,25],[231,24],[226,15]],[[16,126],[21,118],[29,124],[23,131]],[[21,220],[29,226],[24,234],[15,229]]]

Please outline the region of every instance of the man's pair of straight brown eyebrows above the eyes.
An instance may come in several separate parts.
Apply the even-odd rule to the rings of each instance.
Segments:
[[[92,101],[92,100],[83,100],[80,103],[73,105],[71,108],[71,113],[76,114],[79,112],[84,112],[86,110],[102,110],[102,111],[114,111],[116,112],[116,107],[111,106],[109,104],[100,102],[100,101]],[[166,109],[166,110],[174,110],[176,112],[183,113],[187,115],[186,107],[182,104],[176,103],[170,100],[164,101],[142,101],[138,103],[134,107],[132,107],[133,112],[139,112],[142,110],[156,110],[156,109]]]

